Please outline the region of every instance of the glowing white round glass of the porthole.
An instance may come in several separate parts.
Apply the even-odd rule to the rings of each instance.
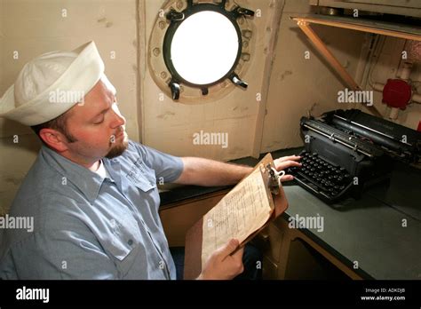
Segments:
[[[218,12],[196,12],[177,28],[171,61],[189,83],[214,83],[234,66],[239,49],[233,23]]]

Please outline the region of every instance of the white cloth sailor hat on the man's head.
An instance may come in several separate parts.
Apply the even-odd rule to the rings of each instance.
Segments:
[[[104,75],[93,41],[72,52],[47,52],[29,61],[0,99],[0,117],[32,126],[48,122],[79,103]]]

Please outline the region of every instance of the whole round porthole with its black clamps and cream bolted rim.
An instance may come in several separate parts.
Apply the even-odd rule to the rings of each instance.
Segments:
[[[149,42],[149,65],[158,85],[174,100],[205,97],[210,90],[228,88],[226,81],[247,88],[240,75],[250,61],[248,20],[254,12],[226,0],[170,3]]]

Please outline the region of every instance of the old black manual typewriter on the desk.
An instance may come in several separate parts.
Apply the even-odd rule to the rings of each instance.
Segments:
[[[420,132],[357,109],[302,117],[300,127],[306,146],[302,166],[285,172],[324,202],[358,198],[367,187],[387,180],[394,159],[419,163],[421,158]]]

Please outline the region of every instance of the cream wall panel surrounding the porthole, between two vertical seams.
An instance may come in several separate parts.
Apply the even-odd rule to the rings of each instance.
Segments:
[[[145,46],[140,51],[143,62],[147,63],[148,38],[155,24],[159,9],[165,1],[147,0],[145,10],[145,27],[140,33],[144,36]],[[242,79],[249,83],[247,91],[235,88],[222,99],[215,99],[210,103],[181,104],[173,102],[165,96],[163,101],[159,95],[163,91],[155,84],[151,72],[147,67],[141,70],[142,96],[142,136],[143,142],[151,147],[161,149],[175,155],[203,156],[218,160],[229,160],[249,156],[252,153],[255,131],[258,122],[258,110],[262,102],[256,99],[257,93],[262,92],[268,45],[275,9],[270,0],[240,0],[236,2],[253,11],[260,10],[261,17],[255,17],[254,22],[258,31],[250,69]],[[228,147],[220,145],[194,145],[195,133],[222,132],[228,134]]]

